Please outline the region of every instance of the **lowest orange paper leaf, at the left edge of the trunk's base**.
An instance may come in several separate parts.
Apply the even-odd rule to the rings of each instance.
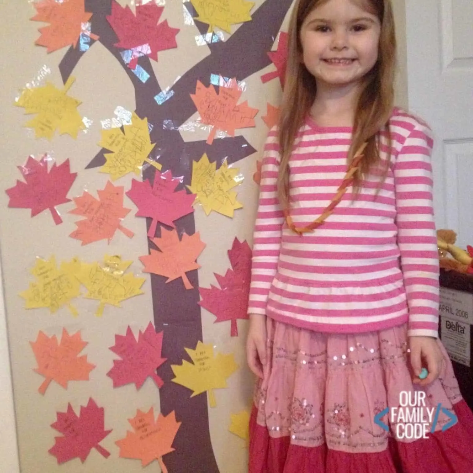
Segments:
[[[158,460],[163,473],[167,473],[162,457],[174,452],[173,441],[181,426],[181,422],[176,422],[175,412],[167,416],[159,413],[155,421],[152,407],[147,413],[138,409],[136,416],[128,422],[134,432],[127,430],[126,437],[115,442],[120,447],[120,457],[139,458],[142,466]]]

